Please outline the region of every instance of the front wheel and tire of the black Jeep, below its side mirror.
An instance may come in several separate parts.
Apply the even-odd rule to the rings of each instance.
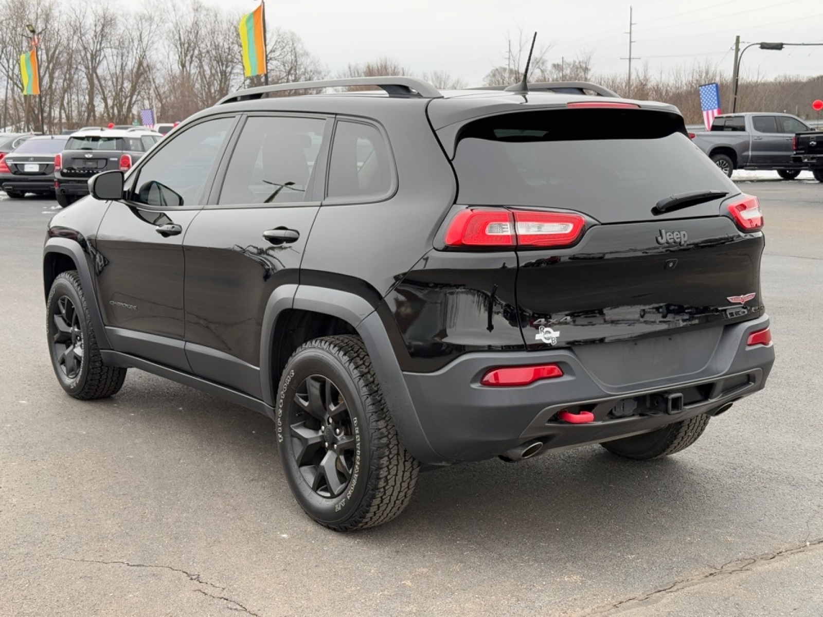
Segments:
[[[110,397],[123,387],[126,369],[104,364],[76,270],[54,279],[46,304],[49,355],[58,382],[83,401]]]

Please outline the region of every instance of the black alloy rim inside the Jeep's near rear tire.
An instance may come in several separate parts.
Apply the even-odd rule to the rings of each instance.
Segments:
[[[324,499],[343,494],[355,463],[354,427],[346,399],[331,379],[311,375],[295,392],[289,427],[300,475]]]

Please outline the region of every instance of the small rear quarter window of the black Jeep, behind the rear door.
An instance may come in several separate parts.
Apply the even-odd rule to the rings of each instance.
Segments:
[[[328,172],[328,197],[384,197],[392,167],[383,135],[370,124],[338,122]]]

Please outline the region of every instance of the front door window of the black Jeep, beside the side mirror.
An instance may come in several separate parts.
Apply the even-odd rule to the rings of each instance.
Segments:
[[[179,132],[158,146],[138,170],[129,199],[147,206],[199,206],[207,179],[235,118],[216,118]]]

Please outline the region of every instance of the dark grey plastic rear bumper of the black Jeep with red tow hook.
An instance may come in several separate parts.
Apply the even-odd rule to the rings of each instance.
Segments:
[[[532,439],[545,443],[544,449],[573,448],[653,431],[759,391],[774,364],[774,347],[747,347],[746,341],[768,325],[764,317],[727,326],[703,369],[629,385],[602,383],[568,349],[467,354],[437,373],[404,373],[404,378],[433,450],[427,462],[482,460]],[[526,387],[480,384],[492,368],[548,363],[560,365],[564,376]],[[627,417],[612,412],[621,401],[641,401],[642,407],[646,397],[672,393],[682,394],[682,411]],[[557,420],[564,409],[592,411],[595,420],[567,424]]]

